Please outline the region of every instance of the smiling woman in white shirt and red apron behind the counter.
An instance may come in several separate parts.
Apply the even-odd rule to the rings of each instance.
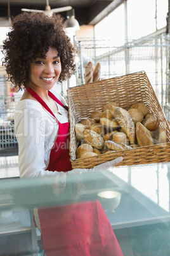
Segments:
[[[43,13],[18,15],[3,42],[3,53],[10,81],[24,88],[15,111],[20,177],[55,176],[65,183],[67,175],[89,171],[72,170],[68,109],[52,90],[75,69],[75,50],[63,31],[63,18]],[[94,169],[114,166],[121,160]],[[58,191],[56,186],[55,194]],[[98,201],[38,209],[34,217],[47,256],[122,255]]]

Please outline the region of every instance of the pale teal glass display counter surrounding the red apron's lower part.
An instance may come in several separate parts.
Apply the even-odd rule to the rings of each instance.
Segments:
[[[98,200],[124,256],[169,256],[169,179],[170,163],[72,174],[64,183],[54,178],[2,178],[0,255],[45,255],[34,225],[35,209]]]

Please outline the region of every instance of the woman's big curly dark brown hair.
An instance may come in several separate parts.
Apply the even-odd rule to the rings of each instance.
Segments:
[[[3,41],[3,66],[8,80],[20,89],[29,82],[30,63],[37,55],[45,55],[49,46],[55,47],[61,59],[62,73],[58,82],[72,75],[75,49],[63,30],[63,17],[53,14],[23,12],[12,20],[13,26]]]

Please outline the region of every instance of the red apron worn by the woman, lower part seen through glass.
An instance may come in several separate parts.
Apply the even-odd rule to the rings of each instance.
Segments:
[[[37,96],[34,90],[30,87],[27,90],[53,115],[46,103]],[[48,94],[63,106],[51,92]],[[55,117],[55,115],[53,116]],[[65,124],[58,122],[58,125],[58,136],[51,150],[47,169],[49,171],[70,171],[72,166],[69,156],[69,122]],[[56,150],[57,148],[59,150]],[[99,201],[41,208],[38,213],[46,256],[123,255],[112,226]]]

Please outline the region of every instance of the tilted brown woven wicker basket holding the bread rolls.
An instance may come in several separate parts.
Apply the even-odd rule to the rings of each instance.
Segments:
[[[89,117],[94,110],[103,110],[103,105],[115,101],[129,110],[135,103],[144,103],[159,119],[160,125],[167,131],[167,143],[141,146],[131,150],[112,152],[87,159],[76,159],[77,141],[74,126],[81,119]],[[91,168],[108,160],[122,156],[123,161],[117,166],[169,162],[170,129],[166,117],[155,96],[144,71],[89,83],[68,89],[70,118],[70,161],[72,168]]]

